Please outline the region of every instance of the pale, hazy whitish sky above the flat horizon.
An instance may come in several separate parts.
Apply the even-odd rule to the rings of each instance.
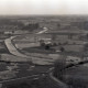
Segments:
[[[88,0],[0,0],[0,15],[88,14]]]

